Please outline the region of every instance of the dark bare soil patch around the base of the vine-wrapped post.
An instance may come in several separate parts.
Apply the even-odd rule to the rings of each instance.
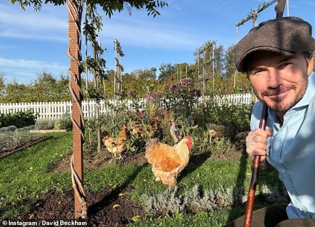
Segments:
[[[87,192],[88,215],[86,219],[78,222],[87,222],[89,227],[125,227],[145,214],[141,206],[130,200],[127,188],[105,188],[99,192]],[[49,221],[49,220],[74,220],[74,193],[73,190],[64,194],[52,194],[48,198],[31,203],[32,208],[21,217],[21,220]],[[119,205],[119,206],[117,206]],[[49,225],[56,226],[56,225]]]

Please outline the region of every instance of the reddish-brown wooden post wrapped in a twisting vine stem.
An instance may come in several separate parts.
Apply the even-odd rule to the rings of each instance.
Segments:
[[[69,15],[67,55],[70,58],[69,90],[72,97],[71,119],[73,124],[73,156],[71,159],[72,184],[75,199],[75,218],[85,218],[87,206],[83,191],[83,143],[84,143],[84,116],[81,103],[81,17],[83,0],[67,0]]]

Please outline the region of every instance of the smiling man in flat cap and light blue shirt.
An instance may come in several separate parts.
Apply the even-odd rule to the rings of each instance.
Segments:
[[[263,22],[236,45],[237,70],[246,72],[260,101],[252,110],[246,151],[279,171],[291,200],[254,211],[252,227],[315,227],[314,50],[312,26],[298,17]],[[263,105],[266,130],[259,128]],[[243,222],[241,217],[227,226]]]

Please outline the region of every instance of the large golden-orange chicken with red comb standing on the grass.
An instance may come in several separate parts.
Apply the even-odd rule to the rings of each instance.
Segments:
[[[193,139],[185,136],[175,146],[159,142],[157,138],[149,139],[146,143],[145,157],[152,164],[152,172],[156,181],[174,187],[179,173],[189,162],[189,152]]]

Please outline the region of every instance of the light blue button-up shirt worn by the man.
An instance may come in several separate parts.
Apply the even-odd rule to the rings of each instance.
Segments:
[[[262,103],[254,105],[250,127],[259,127]],[[315,73],[309,76],[304,97],[285,115],[282,127],[276,114],[268,110],[267,127],[273,136],[267,142],[267,161],[279,172],[291,203],[292,218],[315,219]]]

